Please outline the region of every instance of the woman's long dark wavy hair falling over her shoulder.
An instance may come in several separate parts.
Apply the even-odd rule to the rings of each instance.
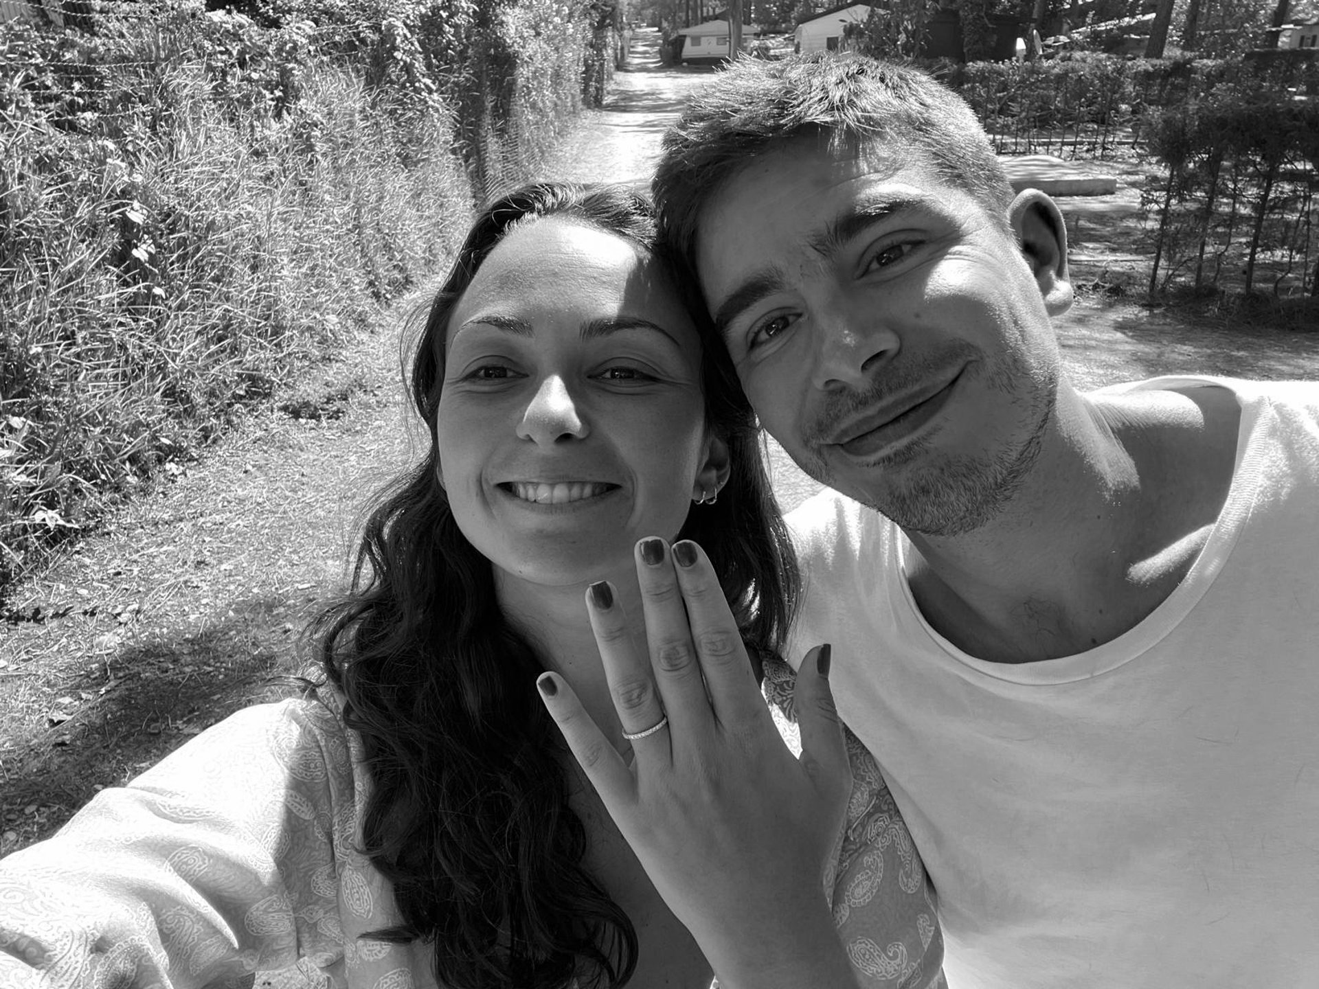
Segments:
[[[491,564],[459,531],[435,476],[450,314],[504,235],[545,216],[663,258],[649,203],[623,187],[525,186],[477,216],[413,356],[412,400],[430,448],[367,517],[351,593],[315,626],[373,781],[364,852],[393,885],[401,918],[376,936],[433,944],[435,978],[451,989],[562,989],[574,976],[621,986],[637,963],[632,922],[582,864],[570,757],[536,691],[543,663],[500,613]],[[777,653],[795,563],[754,415],[699,302],[685,302],[704,340],[707,421],[732,471],[681,535],[710,554],[752,653]]]

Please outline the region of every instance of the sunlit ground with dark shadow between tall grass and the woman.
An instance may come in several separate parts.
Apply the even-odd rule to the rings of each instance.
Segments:
[[[408,454],[400,307],[15,588],[0,624],[0,853],[297,670],[352,514]]]

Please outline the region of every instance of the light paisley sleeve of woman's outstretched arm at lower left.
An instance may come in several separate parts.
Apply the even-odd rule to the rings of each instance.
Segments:
[[[339,982],[351,787],[314,702],[226,719],[0,860],[0,986],[249,985],[299,963]]]

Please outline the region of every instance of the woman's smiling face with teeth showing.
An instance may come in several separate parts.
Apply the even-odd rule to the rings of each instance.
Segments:
[[[454,518],[542,584],[632,567],[677,535],[727,455],[700,342],[662,269],[613,233],[536,220],[485,258],[448,322],[437,433]]]

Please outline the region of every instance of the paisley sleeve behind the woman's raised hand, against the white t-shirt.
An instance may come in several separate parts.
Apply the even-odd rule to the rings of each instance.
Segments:
[[[787,663],[765,663],[765,698],[789,720],[795,679]],[[852,795],[826,891],[852,973],[865,989],[944,989],[929,874],[880,767],[852,732],[847,754]]]

